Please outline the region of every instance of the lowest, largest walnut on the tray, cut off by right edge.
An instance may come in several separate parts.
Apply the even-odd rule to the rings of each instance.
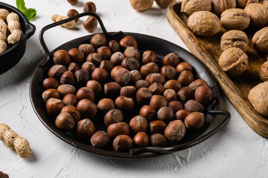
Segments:
[[[249,93],[250,103],[261,115],[268,116],[268,82],[258,84]]]

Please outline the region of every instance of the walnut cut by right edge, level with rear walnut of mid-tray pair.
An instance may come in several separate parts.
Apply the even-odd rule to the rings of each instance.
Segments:
[[[268,27],[264,27],[254,34],[252,44],[258,51],[268,52]]]

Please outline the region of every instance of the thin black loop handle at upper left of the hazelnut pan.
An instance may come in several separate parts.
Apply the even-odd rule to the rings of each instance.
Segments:
[[[61,20],[61,21],[58,21],[58,22],[55,22],[55,23],[51,23],[51,24],[49,24],[49,25],[46,25],[46,26],[44,26],[44,27],[41,29],[41,31],[40,31],[40,33],[39,33],[39,40],[40,40],[40,43],[41,43],[41,45],[42,45],[42,47],[43,47],[43,49],[44,49],[44,51],[45,51],[45,53],[46,53],[46,60],[43,61],[42,63],[40,63],[40,67],[43,67],[43,66],[44,66],[45,64],[47,64],[47,63],[51,60],[51,58],[52,58],[51,52],[50,52],[50,50],[48,50],[48,48],[47,48],[47,46],[46,46],[46,44],[45,44],[45,42],[44,42],[44,32],[47,31],[47,29],[50,29],[50,28],[52,28],[52,27],[61,25],[61,24],[63,24],[63,23],[69,22],[69,21],[71,21],[71,20],[75,20],[75,19],[77,19],[77,18],[86,16],[86,15],[93,16],[93,17],[95,17],[95,18],[99,21],[99,23],[100,23],[100,25],[101,25],[101,28],[102,28],[102,31],[103,31],[103,33],[104,33],[104,35],[105,35],[106,37],[113,38],[113,37],[115,37],[115,36],[118,36],[118,35],[121,35],[121,34],[122,34],[121,31],[116,32],[116,33],[113,33],[113,34],[108,33],[108,32],[106,31],[106,28],[105,28],[105,26],[104,26],[104,24],[103,24],[103,21],[102,21],[102,19],[100,18],[100,16],[97,15],[97,14],[95,14],[95,13],[93,13],[93,12],[84,12],[84,13],[78,14],[78,15],[76,15],[76,16],[73,16],[73,17],[70,17],[70,18],[66,18],[66,19],[64,19],[64,20]]]

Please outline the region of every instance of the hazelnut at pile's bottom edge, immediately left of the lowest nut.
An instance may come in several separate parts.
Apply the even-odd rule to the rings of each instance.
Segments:
[[[104,131],[96,131],[90,138],[92,146],[104,147],[109,144],[110,137]]]

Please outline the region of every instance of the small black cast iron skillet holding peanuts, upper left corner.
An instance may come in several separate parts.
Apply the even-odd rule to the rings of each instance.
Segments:
[[[26,16],[20,10],[13,6],[0,2],[0,9],[6,9],[9,12],[18,14],[21,30],[23,32],[23,36],[19,42],[13,46],[9,46],[6,51],[0,54],[0,74],[3,74],[15,66],[22,58],[26,49],[26,41],[34,35],[35,26],[28,21]]]

